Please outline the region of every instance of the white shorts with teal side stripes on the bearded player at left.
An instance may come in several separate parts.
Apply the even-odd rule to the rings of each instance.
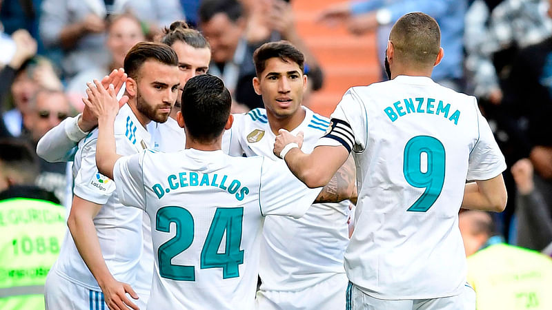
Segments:
[[[108,310],[101,291],[81,287],[62,278],[52,268],[44,286],[46,310]]]

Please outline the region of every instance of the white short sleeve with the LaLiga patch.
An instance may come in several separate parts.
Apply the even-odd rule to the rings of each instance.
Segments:
[[[81,151],[81,167],[75,176],[73,191],[76,196],[91,203],[104,205],[115,192],[113,180],[100,174],[96,167],[96,141],[92,139]]]

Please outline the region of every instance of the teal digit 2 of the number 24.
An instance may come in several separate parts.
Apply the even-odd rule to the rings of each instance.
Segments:
[[[162,207],[157,211],[155,229],[170,232],[170,223],[176,224],[176,235],[157,250],[159,275],[179,281],[195,281],[193,266],[172,265],[172,258],[188,249],[194,240],[194,219],[188,210],[181,207]]]

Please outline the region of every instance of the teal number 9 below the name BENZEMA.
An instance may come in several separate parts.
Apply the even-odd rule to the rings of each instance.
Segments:
[[[427,156],[427,170],[422,172],[422,153]],[[402,172],[406,182],[424,188],[424,194],[406,211],[426,212],[441,194],[444,183],[444,146],[432,136],[415,136],[404,147]]]

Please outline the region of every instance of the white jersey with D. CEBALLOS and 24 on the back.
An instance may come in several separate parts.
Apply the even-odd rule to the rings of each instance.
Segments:
[[[150,217],[148,309],[253,309],[264,216],[302,216],[320,192],[282,161],[221,150],[148,150],[120,158],[113,174],[121,201]]]

